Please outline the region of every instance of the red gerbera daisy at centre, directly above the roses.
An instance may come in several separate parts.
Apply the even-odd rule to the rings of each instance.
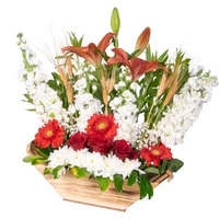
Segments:
[[[89,135],[101,134],[105,138],[112,139],[116,136],[116,129],[118,128],[118,125],[115,123],[112,114],[107,116],[94,114],[88,120],[88,124],[89,125],[85,130]]]

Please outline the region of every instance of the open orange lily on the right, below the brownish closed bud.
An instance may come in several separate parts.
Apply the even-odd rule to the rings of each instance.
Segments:
[[[124,66],[127,66],[130,71],[129,73],[131,76],[131,81],[136,81],[143,73],[155,69],[163,69],[168,71],[168,69],[159,61],[147,61],[137,57],[131,57],[130,59],[128,59],[127,53],[122,48],[113,48],[112,50],[116,54],[116,56],[108,58],[107,65],[111,66],[114,64],[122,64]]]

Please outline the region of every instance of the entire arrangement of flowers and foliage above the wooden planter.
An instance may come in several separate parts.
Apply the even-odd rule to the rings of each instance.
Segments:
[[[69,44],[50,58],[55,65],[50,77],[42,72],[23,34],[18,34],[25,101],[43,122],[33,140],[36,153],[23,161],[45,163],[44,174],[54,178],[67,170],[72,177],[94,177],[102,192],[110,182],[120,193],[125,182],[137,183],[140,198],[151,198],[147,174],[183,166],[171,147],[183,142],[218,80],[203,67],[193,68],[181,49],[174,58],[169,50],[152,53],[150,27],[127,53],[119,47],[119,26],[114,8],[112,32],[97,45],[82,46],[83,37],[68,33]]]

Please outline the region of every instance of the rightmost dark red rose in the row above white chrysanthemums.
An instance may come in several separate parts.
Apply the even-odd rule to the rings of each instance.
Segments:
[[[136,160],[138,158],[138,152],[132,150],[131,145],[126,140],[115,140],[112,148],[114,154],[123,161],[126,158],[130,160]]]

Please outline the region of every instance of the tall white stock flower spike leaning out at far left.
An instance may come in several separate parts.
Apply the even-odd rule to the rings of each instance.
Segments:
[[[25,54],[27,64],[22,62],[19,78],[25,83],[26,94],[32,99],[39,119],[46,123],[49,118],[56,118],[61,124],[68,124],[68,112],[62,107],[57,92],[47,84],[47,74],[42,72],[35,54],[25,42],[20,44],[20,49]]]

